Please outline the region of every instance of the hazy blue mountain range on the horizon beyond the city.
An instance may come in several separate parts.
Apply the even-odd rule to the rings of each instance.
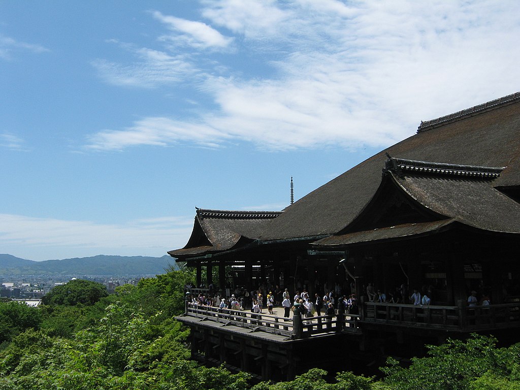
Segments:
[[[131,276],[161,275],[177,269],[171,256],[107,256],[65,258],[35,262],[9,254],[0,254],[0,275],[96,275]]]

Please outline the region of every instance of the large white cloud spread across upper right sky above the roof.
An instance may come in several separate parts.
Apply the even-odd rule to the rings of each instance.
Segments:
[[[515,92],[511,85],[520,77],[520,3],[512,0],[202,4],[207,23],[154,16],[208,47],[220,42],[220,35],[210,39],[211,25],[235,35],[236,52],[219,60],[220,75],[198,56],[185,57],[185,68],[175,71],[218,109],[188,119],[142,118],[93,135],[90,148],[233,141],[276,150],[386,146],[412,135],[421,120]],[[260,61],[260,70],[252,64],[233,72],[244,54]]]

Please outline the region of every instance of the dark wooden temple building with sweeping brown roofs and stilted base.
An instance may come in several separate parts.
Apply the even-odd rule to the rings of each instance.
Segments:
[[[197,209],[186,246],[168,252],[197,268],[197,285],[232,291],[278,285],[291,296],[303,287],[310,296],[339,287],[356,293],[361,304],[355,331],[339,327],[320,342],[314,336],[283,339],[285,344],[258,340],[259,332],[255,339],[186,316],[180,320],[198,340],[192,353],[218,362],[238,355],[238,368],[264,379],[290,379],[298,367],[329,360],[343,370],[356,361],[382,364],[378,359],[385,355],[417,354],[425,343],[475,331],[518,337],[519,202],[516,93],[421,122],[417,134],[281,212]],[[368,283],[404,300],[370,302]],[[426,293],[430,305],[412,305],[413,289]],[[479,299],[489,297],[491,305],[468,307],[472,291]],[[212,353],[219,348],[225,351]],[[323,350],[332,358],[324,358]],[[255,354],[261,365],[253,364]],[[299,363],[292,363],[294,356]]]

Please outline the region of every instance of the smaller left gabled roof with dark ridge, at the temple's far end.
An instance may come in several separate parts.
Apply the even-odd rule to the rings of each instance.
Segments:
[[[190,239],[183,249],[169,251],[173,257],[202,255],[251,242],[260,235],[264,224],[281,211],[227,211],[197,208]]]

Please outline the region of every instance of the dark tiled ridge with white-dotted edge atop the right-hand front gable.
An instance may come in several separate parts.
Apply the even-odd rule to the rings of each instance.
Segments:
[[[390,157],[385,161],[383,174],[387,171],[396,173],[412,172],[437,176],[472,177],[493,180],[499,177],[504,169],[505,167],[437,163]]]

